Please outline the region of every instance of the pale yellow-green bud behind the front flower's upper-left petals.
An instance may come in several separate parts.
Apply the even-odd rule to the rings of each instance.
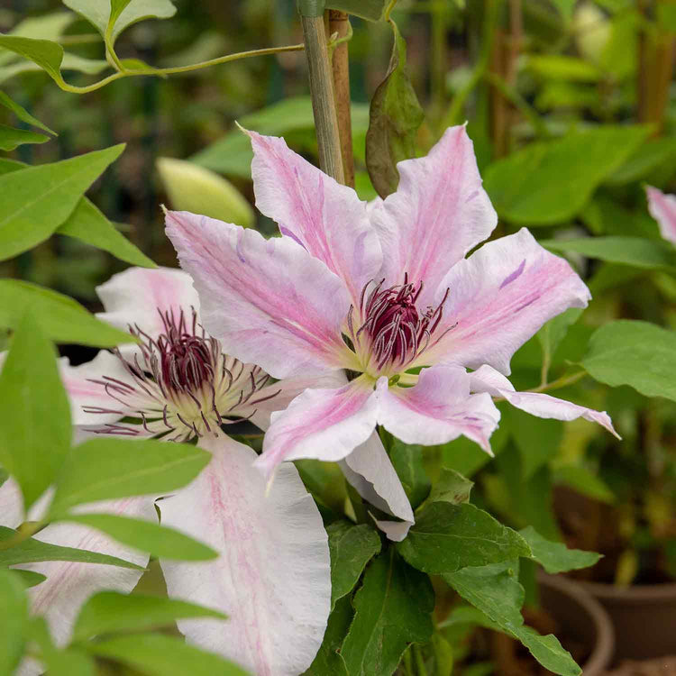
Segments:
[[[249,202],[230,181],[211,169],[170,158],[159,158],[157,168],[174,209],[218,218],[245,228],[253,225],[254,214]]]

